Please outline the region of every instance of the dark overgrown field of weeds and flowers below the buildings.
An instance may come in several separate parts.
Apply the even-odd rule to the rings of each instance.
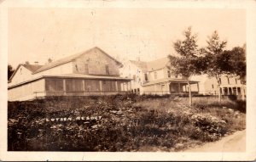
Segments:
[[[245,102],[116,95],[11,102],[9,151],[180,151],[245,129]],[[95,117],[90,120],[55,118]],[[47,121],[48,119],[49,121]]]

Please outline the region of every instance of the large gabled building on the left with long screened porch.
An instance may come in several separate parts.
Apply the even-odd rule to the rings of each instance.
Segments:
[[[45,65],[19,64],[9,80],[9,101],[127,92],[130,79],[119,76],[122,66],[99,47]]]

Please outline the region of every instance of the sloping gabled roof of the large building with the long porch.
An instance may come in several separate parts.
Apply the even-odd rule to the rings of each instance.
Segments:
[[[104,53],[105,55],[107,55],[110,59],[113,59],[117,64],[119,65],[122,65],[118,60],[114,59],[113,57],[111,57],[110,55],[108,55],[108,53],[105,53],[101,48],[99,47],[93,47],[93,48],[90,48],[89,50],[87,51],[84,51],[82,53],[76,53],[76,54],[73,54],[71,56],[67,56],[66,58],[63,58],[63,59],[58,59],[56,61],[53,61],[49,64],[45,64],[43,67],[41,67],[40,69],[36,70],[33,74],[36,74],[38,72],[41,72],[41,71],[44,71],[44,70],[49,70],[51,68],[54,68],[56,66],[59,66],[61,64],[67,64],[69,62],[72,62],[74,59],[77,59],[79,58],[81,55],[83,54],[87,54],[87,53],[90,53],[92,50],[99,50],[101,51],[102,53]]]

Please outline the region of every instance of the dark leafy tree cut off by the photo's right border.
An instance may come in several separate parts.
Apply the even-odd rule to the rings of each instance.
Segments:
[[[247,75],[247,63],[246,63],[246,47],[233,47],[228,51],[230,54],[230,66],[232,67],[231,73],[239,77],[241,87],[241,99],[245,99],[246,75]]]

